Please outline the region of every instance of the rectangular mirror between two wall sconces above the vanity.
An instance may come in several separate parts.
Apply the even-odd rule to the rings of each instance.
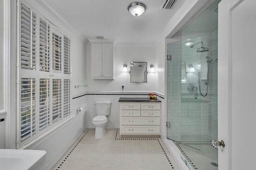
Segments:
[[[131,62],[131,81],[130,82],[147,82],[147,62]]]

